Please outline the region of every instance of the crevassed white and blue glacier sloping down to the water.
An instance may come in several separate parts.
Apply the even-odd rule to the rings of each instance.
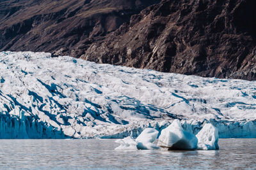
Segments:
[[[179,119],[198,134],[256,138],[256,81],[0,52],[0,138],[136,138]]]

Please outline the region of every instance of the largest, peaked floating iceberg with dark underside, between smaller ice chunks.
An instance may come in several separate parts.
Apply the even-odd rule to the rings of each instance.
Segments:
[[[159,136],[158,146],[173,150],[194,150],[197,148],[198,139],[194,134],[184,131],[179,120],[163,129]]]

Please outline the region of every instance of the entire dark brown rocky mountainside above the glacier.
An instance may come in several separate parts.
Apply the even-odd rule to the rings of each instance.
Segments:
[[[1,1],[0,50],[256,80],[255,6],[253,0]]]

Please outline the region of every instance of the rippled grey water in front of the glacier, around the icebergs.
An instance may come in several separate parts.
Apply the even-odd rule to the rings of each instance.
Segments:
[[[0,140],[0,169],[256,169],[256,139],[218,151],[114,150],[115,139]]]

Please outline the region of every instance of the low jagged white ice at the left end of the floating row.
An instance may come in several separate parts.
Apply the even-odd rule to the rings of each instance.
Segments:
[[[115,148],[115,150],[152,150],[159,148],[154,145],[154,141],[156,140],[158,135],[158,131],[153,128],[146,128],[143,132],[141,132],[140,136],[135,140],[130,136],[124,139],[118,139],[115,142],[119,143],[120,146]]]

